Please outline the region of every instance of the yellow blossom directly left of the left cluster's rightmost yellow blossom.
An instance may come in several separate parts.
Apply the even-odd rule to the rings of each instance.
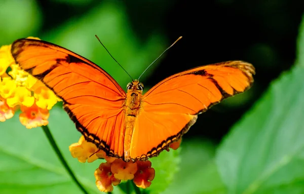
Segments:
[[[17,87],[12,97],[7,99],[9,106],[24,105],[30,107],[33,105],[35,99],[31,96],[31,92],[25,87]]]

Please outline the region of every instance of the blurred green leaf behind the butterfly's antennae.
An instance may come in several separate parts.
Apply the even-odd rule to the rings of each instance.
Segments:
[[[47,32],[42,38],[95,62],[125,89],[131,81],[130,77],[102,48],[95,34],[133,79],[137,79],[168,46],[165,37],[157,32],[151,32],[147,40],[141,42],[130,26],[122,4],[105,1],[81,18],[71,18],[62,26]],[[154,67],[156,64],[145,76],[152,73]]]

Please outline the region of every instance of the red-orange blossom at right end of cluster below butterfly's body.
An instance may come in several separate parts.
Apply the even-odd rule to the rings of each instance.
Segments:
[[[150,161],[137,161],[137,172],[134,174],[133,182],[136,186],[147,188],[155,177],[155,170],[151,168]]]

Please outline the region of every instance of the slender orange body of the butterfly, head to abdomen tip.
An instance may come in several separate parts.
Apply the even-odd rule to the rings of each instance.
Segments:
[[[139,112],[141,98],[142,98],[143,84],[138,80],[134,80],[127,86],[127,97],[125,101],[125,118],[126,118],[126,131],[124,139],[124,160],[130,161],[130,144],[134,124]]]

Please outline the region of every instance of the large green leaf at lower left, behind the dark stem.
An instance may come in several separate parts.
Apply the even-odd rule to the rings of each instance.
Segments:
[[[67,163],[90,193],[100,193],[94,171],[101,161],[83,164],[72,158],[68,146],[78,142],[81,134],[62,108],[55,106],[50,112],[50,130]],[[62,167],[43,130],[25,129],[18,115],[0,123],[0,175],[1,194],[82,193]]]

